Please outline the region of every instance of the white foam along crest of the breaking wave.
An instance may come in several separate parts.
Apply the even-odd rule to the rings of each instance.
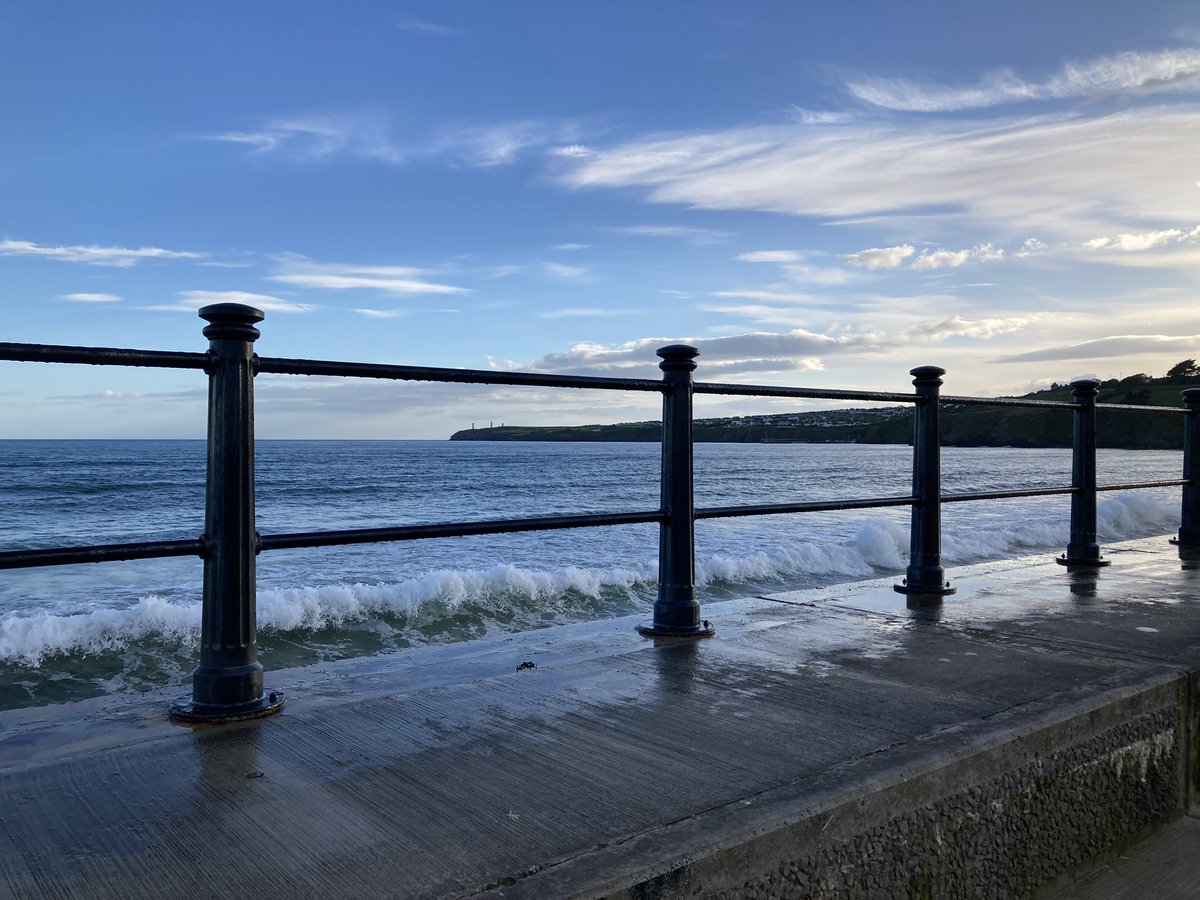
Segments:
[[[1164,534],[1178,524],[1177,500],[1148,492],[1102,496],[1097,510],[1102,541]],[[947,564],[1014,556],[1018,552],[1066,546],[1068,522],[1062,515],[970,517],[947,527]],[[752,547],[746,535],[739,544]],[[908,530],[902,517],[872,517],[848,540],[812,532],[787,546],[712,554],[697,560],[702,587],[724,592],[769,583],[773,588],[805,587],[895,572],[906,563]],[[616,592],[644,599],[656,577],[652,564],[612,568],[533,569],[494,565],[482,569],[439,569],[391,583],[334,583],[294,588],[264,588],[258,594],[258,623],[264,631],[318,631],[380,617],[406,617],[413,640],[434,619],[467,611],[480,620],[490,611],[517,606],[529,612],[563,612],[560,619],[593,618],[596,600]],[[574,605],[571,598],[575,598]],[[425,620],[420,620],[425,617]],[[527,617],[529,618],[529,617]],[[157,595],[126,608],[94,608],[76,614],[10,613],[0,618],[0,661],[37,666],[62,654],[96,654],[156,641],[194,646],[199,636],[200,604]]]

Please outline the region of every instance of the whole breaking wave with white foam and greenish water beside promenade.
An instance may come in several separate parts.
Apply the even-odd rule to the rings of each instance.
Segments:
[[[1177,500],[1151,492],[1104,496],[1097,518],[1102,541],[1164,534],[1178,523]],[[702,554],[696,572],[701,599],[818,587],[902,570],[906,515],[872,516],[854,528],[848,539],[814,529],[785,546]],[[1064,546],[1067,528],[1062,515],[1048,512],[991,509],[978,521],[960,516],[944,529],[943,558],[962,565],[1057,551]],[[740,535],[738,542],[755,544],[752,535]],[[655,577],[652,564],[563,569],[502,564],[431,570],[396,582],[268,587],[258,593],[259,642],[276,648],[307,644],[317,658],[330,659],[629,614],[650,608]],[[199,628],[199,600],[160,595],[124,608],[12,612],[0,618],[0,665],[32,668],[55,658],[136,647],[191,652]],[[313,661],[295,648],[294,659]]]

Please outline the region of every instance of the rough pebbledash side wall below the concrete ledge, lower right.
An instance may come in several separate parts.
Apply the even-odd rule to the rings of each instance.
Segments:
[[[1038,896],[1184,809],[1196,756],[1188,682],[900,779],[618,895]],[[936,799],[906,808],[923,794]]]

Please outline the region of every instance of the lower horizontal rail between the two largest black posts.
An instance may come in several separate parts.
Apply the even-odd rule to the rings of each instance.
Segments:
[[[467,538],[479,534],[512,534],[516,532],[554,532],[564,528],[594,528],[596,526],[642,524],[665,522],[666,512],[598,512],[580,516],[539,516],[533,518],[496,518],[484,522],[442,522],[433,524],[395,526],[391,528],[349,528],[341,532],[294,532],[264,534],[260,547],[296,550],[299,547],[334,547],[343,544],[383,544],[426,538]]]

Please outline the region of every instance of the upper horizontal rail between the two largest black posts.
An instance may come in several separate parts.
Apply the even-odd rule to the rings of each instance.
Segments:
[[[484,368],[437,368],[432,366],[390,366],[382,362],[337,362],[334,360],[259,356],[259,372],[269,374],[329,376],[336,378],[388,378],[398,382],[445,382],[450,384],[510,384],[535,388],[584,388],[662,394],[662,382],[649,378],[604,378],[600,376],[556,376],[535,372],[493,372]]]

